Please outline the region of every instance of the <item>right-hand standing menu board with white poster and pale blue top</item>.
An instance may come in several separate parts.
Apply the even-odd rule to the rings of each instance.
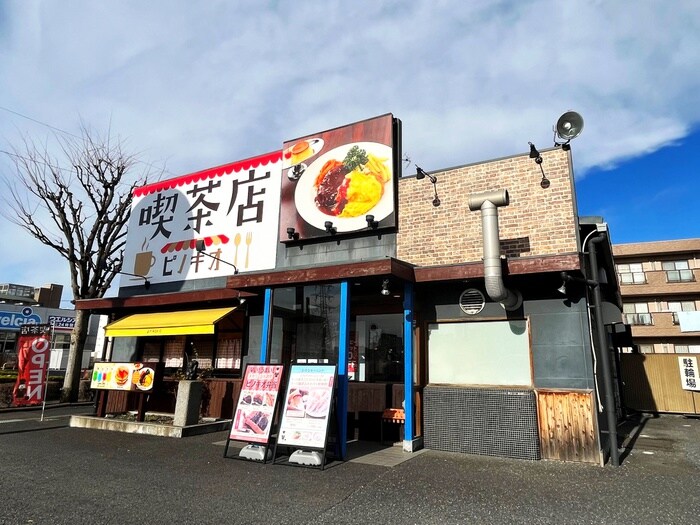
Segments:
[[[325,448],[335,377],[335,365],[292,365],[278,444]]]

